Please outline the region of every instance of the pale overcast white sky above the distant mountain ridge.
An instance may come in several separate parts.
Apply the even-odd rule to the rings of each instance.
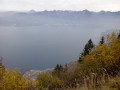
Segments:
[[[120,0],[0,0],[0,11],[92,10],[120,11]]]

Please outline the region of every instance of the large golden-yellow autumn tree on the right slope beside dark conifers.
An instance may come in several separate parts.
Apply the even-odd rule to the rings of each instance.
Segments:
[[[85,70],[99,72],[101,69],[109,75],[120,72],[120,42],[115,33],[107,37],[107,43],[97,45],[89,54],[84,56]]]

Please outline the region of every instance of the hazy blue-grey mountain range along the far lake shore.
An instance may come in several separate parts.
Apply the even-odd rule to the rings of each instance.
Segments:
[[[1,12],[0,26],[39,26],[48,24],[78,24],[105,22],[106,20],[120,19],[120,11],[39,11],[30,10],[29,12]],[[54,23],[55,22],[55,23]],[[77,23],[78,22],[78,23]],[[112,23],[113,23],[112,22]]]

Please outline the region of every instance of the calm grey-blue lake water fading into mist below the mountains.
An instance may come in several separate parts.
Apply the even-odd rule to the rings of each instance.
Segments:
[[[75,22],[75,21],[74,21]],[[101,33],[120,29],[120,20],[0,26],[0,56],[8,68],[43,70],[78,60],[87,41]]]

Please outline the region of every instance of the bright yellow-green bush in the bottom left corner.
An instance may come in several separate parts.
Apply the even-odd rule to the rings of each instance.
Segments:
[[[3,75],[1,90],[27,90],[28,80],[19,71],[6,70]]]

